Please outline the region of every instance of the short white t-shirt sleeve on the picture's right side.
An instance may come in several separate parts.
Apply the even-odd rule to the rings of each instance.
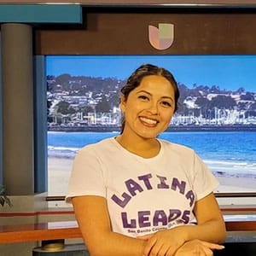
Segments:
[[[212,193],[214,189],[218,188],[218,179],[208,169],[207,165],[201,160],[201,158],[195,154],[194,158],[194,189],[196,192],[196,200]]]

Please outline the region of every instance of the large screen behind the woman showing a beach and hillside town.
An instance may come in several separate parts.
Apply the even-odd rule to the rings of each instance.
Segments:
[[[141,64],[172,72],[178,110],[160,135],[194,148],[220,186],[256,190],[256,55],[46,57],[49,195],[65,195],[79,148],[119,134],[119,90]]]

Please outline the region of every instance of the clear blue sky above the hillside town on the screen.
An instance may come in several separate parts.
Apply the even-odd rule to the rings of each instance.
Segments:
[[[165,67],[189,88],[216,85],[256,92],[256,55],[51,55],[46,73],[127,79],[143,63]]]

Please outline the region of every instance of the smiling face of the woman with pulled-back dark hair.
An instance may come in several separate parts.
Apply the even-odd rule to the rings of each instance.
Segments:
[[[122,96],[120,108],[125,114],[125,136],[157,137],[166,130],[174,112],[172,84],[162,76],[146,76],[126,101]]]

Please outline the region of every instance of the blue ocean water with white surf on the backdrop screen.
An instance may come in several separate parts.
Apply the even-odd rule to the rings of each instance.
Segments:
[[[49,157],[73,158],[79,148],[119,132],[48,132]],[[193,148],[210,170],[225,177],[256,178],[256,132],[164,132],[160,138]]]

